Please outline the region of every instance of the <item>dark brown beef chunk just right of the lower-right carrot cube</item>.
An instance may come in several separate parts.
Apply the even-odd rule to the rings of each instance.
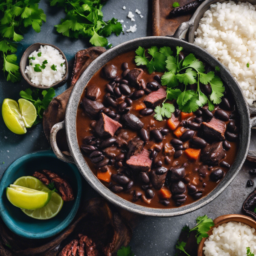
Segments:
[[[201,161],[215,165],[219,160],[224,158],[226,153],[222,146],[222,142],[215,142],[212,145],[207,145],[201,151]]]

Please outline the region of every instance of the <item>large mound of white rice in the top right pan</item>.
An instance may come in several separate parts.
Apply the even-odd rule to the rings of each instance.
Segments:
[[[195,32],[195,44],[217,58],[256,106],[256,11],[248,2],[214,3]],[[250,64],[247,67],[247,63]],[[254,102],[254,103],[253,103]]]

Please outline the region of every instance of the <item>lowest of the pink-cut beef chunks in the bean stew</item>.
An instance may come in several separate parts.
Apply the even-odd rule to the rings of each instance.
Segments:
[[[126,164],[131,167],[131,169],[147,172],[151,168],[152,161],[149,158],[149,151],[142,149],[141,153],[131,156]]]

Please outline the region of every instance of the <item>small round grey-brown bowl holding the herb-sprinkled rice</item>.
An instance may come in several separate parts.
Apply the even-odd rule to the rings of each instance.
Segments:
[[[33,84],[28,75],[25,73],[25,70],[26,70],[26,66],[29,65],[29,55],[34,52],[34,51],[38,51],[38,49],[40,49],[41,45],[49,45],[49,46],[52,46],[53,48],[57,49],[61,55],[63,56],[65,62],[66,62],[66,73],[65,75],[63,76],[63,78],[61,79],[61,81],[58,81],[57,83],[55,84],[52,84],[50,86],[42,86],[42,85],[36,85],[36,84]],[[68,78],[68,65],[67,65],[67,58],[66,56],[64,55],[64,53],[61,51],[61,49],[59,49],[58,47],[52,45],[52,44],[41,44],[41,43],[35,43],[35,44],[32,44],[30,45],[26,51],[23,53],[21,59],[20,59],[20,73],[21,75],[23,76],[23,78],[33,87],[37,87],[37,88],[40,88],[40,89],[45,89],[45,88],[50,88],[50,87],[59,87],[63,84],[65,84],[67,82],[67,78]]]

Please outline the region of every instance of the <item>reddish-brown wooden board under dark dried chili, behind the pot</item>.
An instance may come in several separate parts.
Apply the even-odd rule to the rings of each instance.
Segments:
[[[152,25],[153,35],[166,36],[173,35],[178,26],[184,21],[188,21],[191,14],[169,18],[169,13],[173,9],[172,4],[178,2],[180,6],[193,2],[193,0],[153,0],[152,2]]]

